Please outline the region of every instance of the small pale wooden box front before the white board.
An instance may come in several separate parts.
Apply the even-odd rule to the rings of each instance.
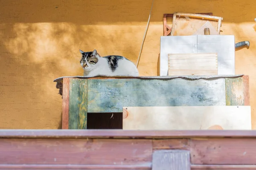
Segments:
[[[218,75],[217,53],[168,54],[168,73],[177,75]]]

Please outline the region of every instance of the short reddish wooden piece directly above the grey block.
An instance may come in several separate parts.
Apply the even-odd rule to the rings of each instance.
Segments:
[[[153,149],[180,149],[189,150],[189,139],[155,139]]]

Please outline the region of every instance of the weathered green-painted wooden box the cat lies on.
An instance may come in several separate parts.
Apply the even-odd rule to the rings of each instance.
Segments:
[[[201,81],[201,83],[198,82],[200,89],[204,89],[204,85],[207,84],[212,84],[212,86],[207,85],[207,91],[202,89],[197,91],[197,81]],[[209,103],[210,105],[250,105],[249,78],[245,75],[237,77],[217,76],[217,78],[195,79],[193,81],[184,77],[170,77],[164,79],[164,81],[157,77],[67,77],[58,82],[57,86],[60,88],[61,95],[63,95],[62,129],[90,129],[91,127],[87,127],[89,125],[87,122],[88,114],[105,116],[102,118],[102,122],[106,125],[102,128],[122,129],[122,107],[128,106],[163,106],[163,104],[165,106],[196,106],[209,105]],[[158,89],[157,99],[156,96],[151,98],[151,91],[143,91],[145,87],[151,90]],[[186,99],[186,102],[183,102],[183,100],[179,100],[179,97],[176,99],[173,96],[174,90],[167,90],[167,87],[175,88],[176,95],[178,91],[184,93],[183,90],[186,89],[194,98],[190,100],[191,95],[185,93],[183,99]],[[218,88],[218,91],[214,93],[214,100],[212,100],[212,96],[208,96],[208,101],[207,93],[213,91],[212,88]],[[166,91],[163,91],[164,89]],[[125,93],[122,91],[125,91]],[[114,97],[108,97],[111,96],[111,93],[115,93]],[[197,93],[200,94],[197,95]],[[205,99],[199,99],[200,96],[205,95]],[[133,101],[137,100],[138,97],[140,101],[134,103]],[[147,102],[145,103],[143,100],[147,100]],[[163,101],[170,102],[165,103]],[[93,124],[99,122],[99,117],[97,119]]]

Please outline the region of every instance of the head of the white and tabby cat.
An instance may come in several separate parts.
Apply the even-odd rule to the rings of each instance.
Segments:
[[[82,57],[80,59],[80,64],[86,71],[91,71],[93,68],[96,67],[97,62],[99,61],[99,54],[96,50],[84,52],[79,50],[82,54]]]

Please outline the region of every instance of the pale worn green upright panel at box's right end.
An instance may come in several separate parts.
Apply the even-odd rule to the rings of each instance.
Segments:
[[[244,105],[244,82],[242,77],[226,78],[226,105]]]

